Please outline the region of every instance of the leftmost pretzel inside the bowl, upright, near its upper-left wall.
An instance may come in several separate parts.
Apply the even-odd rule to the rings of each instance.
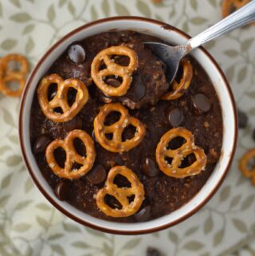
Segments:
[[[57,84],[57,94],[52,100],[48,100],[49,86]],[[77,90],[77,96],[72,106],[69,106],[69,88]],[[65,81],[57,74],[51,74],[42,78],[37,89],[38,101],[41,111],[54,122],[67,122],[72,120],[80,109],[88,101],[88,89],[84,83],[78,79],[69,78]],[[55,108],[61,108],[63,113],[54,112]]]

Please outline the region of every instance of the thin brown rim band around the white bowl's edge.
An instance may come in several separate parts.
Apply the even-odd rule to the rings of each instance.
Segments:
[[[234,100],[234,97],[233,97],[233,93],[232,93],[232,90],[230,89],[230,84],[227,81],[226,76],[223,73],[222,69],[218,65],[217,61],[214,60],[214,57],[212,57],[210,55],[210,53],[206,49],[204,49],[202,46],[199,47],[199,49],[201,49],[202,52],[205,53],[207,57],[209,57],[210,61],[212,61],[213,65],[218,70],[218,73],[220,73],[220,75],[222,76],[223,83],[226,85],[226,89],[227,89],[227,91],[228,91],[228,93],[230,95],[230,102],[232,104],[233,114],[234,114],[233,115],[233,118],[234,118],[234,124],[233,124],[233,137],[234,137],[233,148],[232,148],[232,151],[231,151],[230,158],[228,160],[227,166],[226,166],[225,170],[222,171],[223,172],[222,179],[220,179],[218,181],[218,183],[215,184],[215,186],[212,189],[212,191],[210,191],[210,194],[207,195],[206,198],[203,199],[202,202],[199,203],[197,207],[194,207],[190,212],[186,213],[186,215],[183,215],[179,219],[175,219],[175,221],[171,221],[170,223],[165,223],[165,224],[163,224],[161,226],[157,226],[157,227],[153,227],[153,228],[148,227],[146,230],[114,230],[112,228],[108,229],[108,228],[105,228],[105,227],[97,226],[96,224],[88,223],[85,220],[77,218],[76,215],[73,215],[72,213],[66,211],[65,208],[62,207],[60,204],[55,203],[53,201],[53,199],[51,198],[51,196],[47,193],[45,188],[43,186],[41,186],[41,183],[37,180],[37,177],[33,174],[33,167],[30,165],[29,158],[26,155],[25,141],[24,141],[24,138],[22,136],[22,134],[23,134],[22,120],[23,120],[23,116],[24,116],[24,113],[25,113],[24,112],[24,105],[25,105],[25,102],[26,102],[26,96],[27,96],[27,94],[29,92],[29,88],[31,86],[31,82],[33,81],[33,77],[37,73],[37,70],[41,66],[41,63],[43,61],[45,61],[45,59],[47,57],[49,57],[49,55],[53,51],[53,49],[56,49],[58,47],[58,45],[61,45],[61,43],[63,41],[65,41],[69,37],[72,37],[75,33],[78,33],[81,30],[87,29],[88,27],[91,27],[91,26],[94,26],[94,25],[98,25],[98,24],[103,23],[103,22],[111,22],[111,21],[118,21],[118,20],[122,20],[122,21],[123,20],[128,20],[128,21],[138,21],[138,22],[153,23],[155,25],[162,26],[162,27],[166,28],[166,30],[174,30],[175,32],[179,33],[182,37],[185,37],[186,39],[190,39],[190,36],[187,33],[183,32],[182,30],[177,29],[175,26],[168,25],[165,22],[160,22],[160,21],[155,20],[155,19],[143,18],[143,17],[138,17],[138,16],[118,16],[118,17],[101,18],[101,19],[98,19],[98,20],[93,21],[93,22],[88,22],[88,23],[84,24],[83,26],[80,26],[77,29],[72,30],[71,32],[67,33],[64,37],[61,37],[61,39],[59,39],[57,42],[55,42],[43,54],[43,56],[37,62],[37,65],[35,65],[35,67],[33,68],[32,72],[30,73],[29,78],[28,78],[28,80],[26,82],[26,87],[25,87],[25,89],[24,89],[24,91],[22,93],[22,100],[21,100],[21,104],[20,104],[20,112],[19,112],[19,120],[18,120],[18,135],[19,135],[20,145],[21,145],[21,149],[22,149],[22,157],[23,157],[23,160],[24,160],[24,162],[26,164],[26,169],[29,171],[29,175],[32,177],[33,182],[37,185],[39,191],[41,191],[41,193],[45,196],[45,198],[48,199],[49,203],[53,204],[53,206],[56,207],[57,210],[61,211],[61,213],[63,213],[64,215],[68,216],[70,219],[73,219],[77,223],[82,224],[83,226],[88,226],[90,228],[93,228],[93,229],[96,229],[96,230],[100,230],[102,232],[108,232],[108,233],[112,233],[112,234],[149,234],[149,233],[157,232],[159,230],[167,229],[168,227],[175,226],[176,224],[181,223],[185,219],[188,219],[191,215],[194,215],[194,213],[196,213],[206,203],[208,203],[208,201],[213,197],[213,195],[216,193],[216,191],[218,191],[218,188],[222,185],[222,182],[226,178],[226,175],[227,175],[228,171],[230,170],[230,165],[231,165],[231,163],[233,161],[233,156],[234,156],[234,154],[236,152],[236,148],[237,148],[237,108],[236,108],[235,100]]]

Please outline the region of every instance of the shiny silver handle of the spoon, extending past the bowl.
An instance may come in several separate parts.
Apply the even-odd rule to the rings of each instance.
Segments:
[[[186,46],[191,51],[198,46],[214,39],[215,37],[221,36],[224,33],[235,30],[240,26],[245,26],[249,22],[255,21],[255,0],[249,2],[241,9],[237,10],[230,16],[224,18],[221,22],[216,23],[209,29],[199,33],[197,36],[187,41]]]

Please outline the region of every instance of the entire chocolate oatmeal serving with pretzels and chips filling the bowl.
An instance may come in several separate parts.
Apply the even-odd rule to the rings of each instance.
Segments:
[[[222,150],[222,110],[204,69],[186,57],[172,85],[142,33],[100,33],[69,45],[41,77],[30,140],[59,200],[114,222],[182,207]]]

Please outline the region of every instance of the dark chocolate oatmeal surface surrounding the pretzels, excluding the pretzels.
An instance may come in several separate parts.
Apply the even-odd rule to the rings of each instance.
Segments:
[[[169,89],[165,76],[166,67],[159,61],[150,49],[142,44],[143,41],[160,41],[141,33],[119,31],[101,33],[88,37],[83,41],[74,42],[81,45],[85,51],[84,61],[75,62],[69,57],[69,49],[65,51],[50,67],[47,74],[57,73],[63,79],[78,78],[88,87],[89,99],[77,116],[67,123],[55,123],[41,112],[37,95],[34,95],[30,116],[30,140],[38,167],[45,179],[55,191],[59,199],[64,199],[74,207],[96,218],[115,222],[139,222],[155,219],[175,211],[198,193],[210,177],[222,150],[222,110],[214,87],[197,61],[187,57],[193,67],[193,79],[183,96],[178,100],[160,100],[163,93]],[[93,57],[100,50],[112,45],[127,45],[135,50],[139,59],[139,68],[133,73],[133,81],[128,93],[120,97],[106,97],[93,84],[90,76],[90,65]],[[114,57],[117,63],[128,65],[126,57]],[[45,74],[46,75],[46,74]],[[182,70],[179,70],[177,80],[180,80]],[[116,77],[107,77],[116,82]],[[54,87],[49,88],[49,98],[54,96]],[[171,86],[170,86],[171,90]],[[72,102],[75,93],[69,92]],[[146,135],[141,143],[129,152],[108,152],[96,142],[93,132],[93,121],[105,102],[120,101],[128,109],[129,115],[139,119],[146,128]],[[116,122],[118,115],[110,115],[108,124]],[[160,138],[173,127],[184,127],[194,135],[195,144],[204,149],[207,164],[204,171],[198,175],[184,179],[171,178],[159,170],[155,161],[155,149]],[[95,142],[96,160],[92,170],[80,179],[61,179],[53,173],[45,160],[45,147],[49,141],[65,139],[73,129],[82,129]],[[134,135],[133,128],[127,128],[123,139]],[[39,145],[38,141],[41,143]],[[182,140],[175,140],[170,147],[178,148]],[[77,151],[84,154],[84,147],[79,141],[75,144]],[[39,148],[39,149],[38,149]],[[65,153],[57,150],[57,162],[65,161]],[[182,161],[182,167],[194,161],[190,155]],[[104,215],[96,207],[96,193],[104,187],[108,171],[114,166],[126,166],[135,172],[145,190],[145,199],[135,215],[126,218],[112,218]],[[99,175],[100,174],[100,175]],[[103,177],[103,178],[102,178]],[[119,187],[129,186],[123,177],[117,177]],[[120,178],[120,179],[119,179]],[[65,193],[60,187],[65,187]],[[67,192],[66,192],[67,191]],[[108,205],[120,207],[112,197],[105,199]]]

